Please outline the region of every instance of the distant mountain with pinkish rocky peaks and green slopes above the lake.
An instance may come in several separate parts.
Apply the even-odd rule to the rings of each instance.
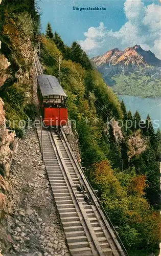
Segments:
[[[113,91],[122,95],[160,97],[161,60],[141,46],[114,48],[91,59]]]

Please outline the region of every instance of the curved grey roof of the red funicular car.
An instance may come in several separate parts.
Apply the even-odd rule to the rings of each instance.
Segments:
[[[37,76],[37,81],[42,93],[42,97],[52,96],[52,95],[67,97],[66,93],[60,86],[58,79],[55,76],[39,75]]]

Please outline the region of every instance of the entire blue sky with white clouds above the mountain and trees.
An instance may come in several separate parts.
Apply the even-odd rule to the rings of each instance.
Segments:
[[[161,57],[159,0],[41,0],[38,5],[42,32],[49,21],[65,44],[78,41],[90,57],[135,44]],[[106,11],[73,10],[73,6]]]

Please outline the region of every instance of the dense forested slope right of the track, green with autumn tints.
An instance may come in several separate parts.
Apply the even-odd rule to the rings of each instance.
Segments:
[[[40,41],[44,73],[58,78],[61,58],[61,84],[70,119],[76,121],[73,129],[87,178],[129,254],[154,252],[159,241],[160,131],[154,133],[149,115],[144,123],[138,112],[127,113],[77,42],[66,46],[50,24]],[[126,129],[128,121],[132,125]]]

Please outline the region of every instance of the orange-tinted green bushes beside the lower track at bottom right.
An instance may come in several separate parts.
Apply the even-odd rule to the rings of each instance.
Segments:
[[[125,246],[131,250],[155,250],[159,241],[159,212],[153,211],[144,198],[146,177],[136,175],[134,168],[113,172],[109,161],[94,164],[88,176],[111,221],[119,226]]]

